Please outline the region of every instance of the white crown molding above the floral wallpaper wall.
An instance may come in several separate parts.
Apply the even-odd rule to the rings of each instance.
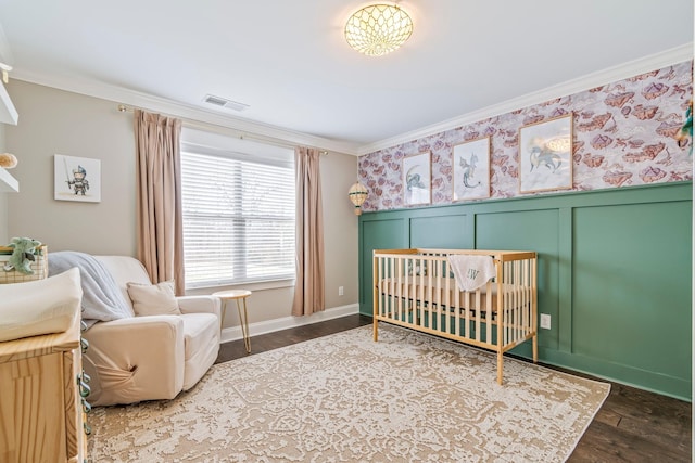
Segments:
[[[587,74],[585,76],[578,77],[576,79],[553,87],[547,87],[536,92],[527,93],[525,95],[514,98],[498,104],[483,107],[479,111],[473,111],[462,116],[444,120],[442,123],[401,133],[399,136],[378,141],[376,143],[359,146],[359,149],[357,150],[357,155],[362,156],[365,154],[374,153],[379,150],[384,150],[391,146],[410,142],[413,140],[421,139],[468,124],[477,123],[489,117],[510,113],[513,111],[532,106],[534,104],[543,103],[556,98],[579,93],[595,87],[605,86],[606,83],[627,79],[639,74],[647,73],[654,69],[660,69],[662,67],[682,63],[688,60],[693,60],[693,42],[685,43],[683,46],[672,48],[660,53],[619,64],[617,66],[598,70],[596,73]]]

